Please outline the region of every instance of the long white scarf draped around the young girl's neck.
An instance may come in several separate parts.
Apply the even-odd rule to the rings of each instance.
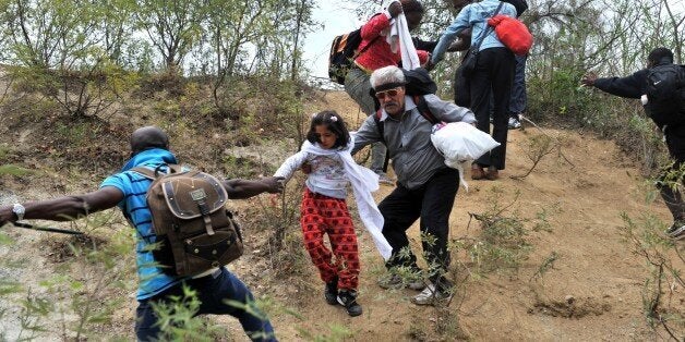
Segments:
[[[352,185],[359,217],[362,223],[364,223],[366,231],[371,234],[371,237],[373,237],[376,248],[378,248],[383,258],[387,260],[390,257],[393,247],[390,247],[390,244],[385,240],[385,236],[383,236],[383,216],[373,200],[373,196],[371,196],[371,192],[378,190],[378,175],[354,162],[350,154],[353,146],[354,136],[350,134],[350,142],[346,149],[324,149],[311,144],[309,141],[304,141],[302,150],[316,156],[338,155],[340,157],[345,175]]]

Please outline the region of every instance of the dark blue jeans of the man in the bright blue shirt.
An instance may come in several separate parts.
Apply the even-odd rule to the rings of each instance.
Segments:
[[[214,274],[189,279],[182,283],[197,292],[197,300],[201,302],[201,305],[195,315],[230,315],[238,318],[242,329],[252,341],[276,341],[272,323],[266,318],[266,315],[254,305],[254,297],[248,286],[225,267]],[[158,339],[157,314],[153,309],[152,304],[164,303],[171,296],[183,296],[182,284],[176,285],[152,298],[139,302],[139,307],[135,310],[135,334],[139,341],[154,341]],[[238,301],[261,317],[248,313],[244,307],[226,304],[224,303],[225,300]]]

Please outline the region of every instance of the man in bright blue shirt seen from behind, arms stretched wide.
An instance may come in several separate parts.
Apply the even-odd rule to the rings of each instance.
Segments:
[[[215,314],[231,315],[240,321],[245,333],[253,341],[275,341],[274,329],[268,318],[256,307],[250,290],[235,274],[223,265],[214,265],[209,269],[191,276],[175,276],[172,271],[165,269],[165,265],[155,256],[154,252],[160,246],[155,225],[155,208],[148,205],[148,190],[153,181],[145,174],[135,171],[135,168],[147,168],[155,173],[165,173],[172,166],[178,164],[176,156],[169,151],[169,138],[158,127],[146,126],[136,130],[131,135],[131,159],[123,169],[109,178],[100,185],[98,191],[85,195],[64,196],[56,199],[14,204],[0,207],[0,224],[21,221],[23,219],[43,219],[53,221],[74,220],[89,213],[118,206],[127,220],[136,231],[136,264],[139,273],[139,290],[136,309],[135,333],[139,341],[152,341],[161,339],[160,327],[157,325],[156,304],[168,303],[173,297],[183,297],[184,288],[194,290],[201,302],[196,315]],[[279,193],[283,184],[279,178],[264,178],[259,181],[226,180],[220,184],[214,183],[220,194],[228,198],[248,198],[264,192]],[[201,182],[201,181],[196,181]],[[178,182],[182,183],[182,182]],[[178,190],[176,184],[165,185],[166,192]],[[169,197],[168,203],[183,206],[180,203],[181,195]],[[217,210],[225,210],[224,201],[218,208],[205,210],[206,203],[215,201],[209,198],[212,191],[202,190],[193,192],[192,197],[197,200],[199,217],[212,235],[221,235],[215,224],[215,218],[211,216]],[[206,198],[211,200],[205,200]],[[224,200],[225,198],[221,198]],[[169,205],[171,207],[171,205]],[[183,213],[181,213],[183,215]],[[175,229],[183,230],[184,223],[176,220]],[[204,225],[203,225],[204,227]],[[206,236],[202,236],[206,237]],[[202,246],[197,246],[201,248]],[[176,253],[175,253],[176,256]],[[178,260],[177,260],[178,264]],[[171,273],[170,273],[171,272]],[[226,303],[226,300],[235,301],[239,305]]]

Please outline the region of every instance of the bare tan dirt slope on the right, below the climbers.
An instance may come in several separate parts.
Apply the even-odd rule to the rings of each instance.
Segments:
[[[358,119],[358,108],[344,93],[329,94],[328,101],[319,106],[344,113],[350,118],[351,126],[363,119]],[[531,168],[532,161],[527,157],[531,139],[545,134],[557,139],[561,149],[543,157],[524,180],[510,179]],[[626,224],[621,216],[627,213],[639,220],[651,213],[670,223],[670,213],[661,203],[647,203],[647,192],[652,187],[628,157],[612,142],[597,139],[592,134],[546,129],[542,133],[528,127],[509,131],[507,168],[501,174],[496,182],[471,181],[467,171],[469,192],[459,190],[450,218],[450,236],[477,236],[480,224],[470,221],[469,213],[482,213],[494,203],[500,208],[510,205],[506,216],[524,221],[530,231],[526,240],[532,245],[530,257],[518,272],[471,278],[453,300],[450,315],[445,315],[443,310],[412,305],[409,297],[414,292],[410,290],[388,292],[375,284],[382,262],[365,234],[362,244],[369,253],[363,253],[360,303],[366,314],[348,318],[341,309],[328,307],[321,298],[321,285],[315,284],[312,301],[302,308],[311,313],[305,326],[312,331],[325,331],[327,325],[338,323],[353,331],[358,341],[433,340],[436,327],[454,328],[454,322],[458,322],[462,337],[483,341],[625,341],[668,337],[663,330],[654,334],[647,326],[642,291],[649,271],[646,259],[632,253],[630,244],[622,237]],[[390,191],[392,187],[383,186],[376,199]],[[536,224],[548,223],[549,229],[532,231]],[[413,251],[420,253],[418,223],[409,232]],[[678,248],[682,254],[682,242]],[[472,266],[464,253],[458,255],[465,265]],[[556,255],[553,267],[543,277],[533,277],[551,255]],[[685,270],[682,259],[674,257],[673,265]],[[683,317],[685,289],[668,285],[673,286],[673,292],[669,292],[665,306],[676,308]],[[682,334],[682,322],[675,326]],[[283,329],[280,333],[297,338],[297,333],[290,335]]]

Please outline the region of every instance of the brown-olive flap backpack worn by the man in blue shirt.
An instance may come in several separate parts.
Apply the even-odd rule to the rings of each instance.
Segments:
[[[194,276],[224,266],[242,255],[242,236],[226,209],[228,194],[215,176],[180,166],[132,171],[153,181],[147,205],[160,268],[172,276]]]

